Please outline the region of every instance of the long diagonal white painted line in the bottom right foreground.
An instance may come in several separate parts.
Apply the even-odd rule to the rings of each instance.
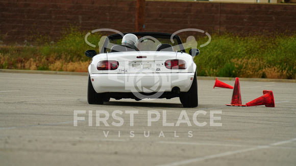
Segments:
[[[183,161],[178,161],[178,162],[172,162],[172,163],[162,164],[162,165],[157,165],[157,166],[177,166],[177,165],[183,165],[183,164],[188,164],[188,163],[192,163],[192,162],[203,161],[203,160],[211,159],[211,158],[224,157],[224,156],[228,156],[228,155],[233,155],[233,154],[238,154],[238,153],[243,153],[243,152],[249,152],[249,151],[255,151],[255,150],[259,150],[259,149],[266,149],[266,148],[270,148],[270,147],[273,147],[273,146],[287,144],[287,143],[290,143],[290,142],[293,142],[293,141],[296,141],[296,138],[291,139],[291,140],[277,142],[277,143],[274,143],[274,144],[269,144],[269,145],[264,145],[264,146],[256,146],[254,148],[241,149],[241,150],[230,151],[230,152],[219,153],[219,154],[213,154],[213,155],[208,155],[208,156],[204,156],[204,157],[192,158],[192,159],[188,159],[188,160],[183,160]]]

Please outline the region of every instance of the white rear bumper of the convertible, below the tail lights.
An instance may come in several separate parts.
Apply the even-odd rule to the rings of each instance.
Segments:
[[[170,92],[179,87],[187,92],[194,73],[120,73],[90,74],[96,93],[105,92]]]

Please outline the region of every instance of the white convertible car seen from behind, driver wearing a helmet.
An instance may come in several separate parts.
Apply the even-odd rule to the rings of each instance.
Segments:
[[[89,104],[114,98],[135,100],[179,97],[184,107],[198,106],[198,84],[193,57],[178,35],[124,33],[108,36],[100,53],[87,50]]]

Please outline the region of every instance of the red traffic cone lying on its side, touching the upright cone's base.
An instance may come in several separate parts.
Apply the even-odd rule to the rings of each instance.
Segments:
[[[275,107],[275,98],[273,91],[264,90],[263,96],[260,96],[248,103],[246,106],[265,105],[266,107]]]

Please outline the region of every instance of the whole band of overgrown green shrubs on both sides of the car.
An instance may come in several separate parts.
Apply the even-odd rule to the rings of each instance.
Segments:
[[[61,38],[53,42],[50,37],[34,37],[34,46],[0,46],[0,68],[58,71],[87,71],[90,59],[84,54],[87,49],[98,50],[102,34],[88,36],[77,27],[64,30]],[[186,39],[185,39],[186,40]],[[237,36],[230,33],[211,34],[196,38],[199,56],[194,58],[200,76],[256,77],[296,79],[296,33],[274,33]],[[189,51],[189,49],[186,49]]]

